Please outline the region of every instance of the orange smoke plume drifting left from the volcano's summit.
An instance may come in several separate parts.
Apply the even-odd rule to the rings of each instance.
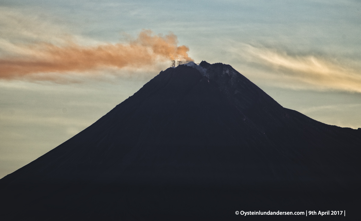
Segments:
[[[23,46],[26,56],[0,58],[0,78],[13,79],[46,72],[82,72],[104,67],[134,67],[155,65],[159,61],[192,61],[189,48],[177,46],[177,36],[152,35],[143,30],[127,44],[101,44],[93,47],[69,43],[64,47],[50,43]]]

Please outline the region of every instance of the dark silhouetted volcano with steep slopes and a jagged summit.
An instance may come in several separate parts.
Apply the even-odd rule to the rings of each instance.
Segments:
[[[190,62],[1,179],[0,218],[239,220],[235,211],[262,209],[347,218],[360,205],[360,143],[360,128],[286,109],[230,65]]]

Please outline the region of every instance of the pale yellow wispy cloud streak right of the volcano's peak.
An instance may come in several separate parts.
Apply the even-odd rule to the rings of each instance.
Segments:
[[[290,82],[314,89],[333,89],[361,93],[361,68],[336,59],[313,54],[290,55],[285,51],[243,45],[248,61],[269,68],[270,73],[282,74]]]

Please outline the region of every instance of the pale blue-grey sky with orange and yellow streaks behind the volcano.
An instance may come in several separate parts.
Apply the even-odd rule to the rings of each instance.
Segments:
[[[361,1],[0,2],[0,178],[172,60],[234,67],[283,107],[361,127]]]

